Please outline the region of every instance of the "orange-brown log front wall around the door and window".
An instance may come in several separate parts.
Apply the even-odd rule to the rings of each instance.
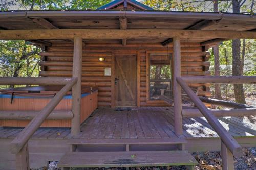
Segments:
[[[114,64],[112,55],[137,54],[140,58],[140,89],[138,90],[138,106],[166,106],[163,101],[146,102],[146,53],[173,52],[172,44],[162,47],[161,44],[84,44],[82,54],[82,86],[97,86],[98,106],[111,106],[111,76],[104,76],[104,68]],[[40,76],[72,76],[73,44],[54,43],[41,54]],[[99,57],[105,58],[99,62]],[[209,54],[203,52],[199,43],[181,43],[182,76],[210,75]],[[113,71],[113,70],[112,70]],[[138,80],[139,81],[139,80]],[[190,84],[191,87],[202,87],[198,95],[210,95],[209,84]],[[114,89],[114,88],[113,88]]]

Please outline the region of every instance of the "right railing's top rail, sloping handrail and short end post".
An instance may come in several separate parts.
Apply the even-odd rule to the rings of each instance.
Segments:
[[[219,123],[215,115],[207,109],[194,91],[189,88],[187,83],[256,83],[256,76],[193,76],[177,77],[176,80],[187,93],[191,101],[198,107],[201,114],[207,119],[211,127],[214,128],[220,136],[223,169],[233,169],[233,156],[242,156],[243,154],[241,146]],[[239,113],[241,112],[239,111]]]

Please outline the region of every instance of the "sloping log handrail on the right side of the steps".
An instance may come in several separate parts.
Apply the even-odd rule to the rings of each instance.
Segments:
[[[242,148],[238,142],[226,131],[226,129],[220,124],[218,119],[207,109],[203,102],[198,98],[193,90],[187,85],[187,83],[181,77],[176,78],[177,82],[181,85],[184,91],[187,93],[191,101],[195,103],[202,115],[207,119],[208,123],[220,136],[221,140],[225,143],[227,148],[232,152],[234,156],[242,156]]]

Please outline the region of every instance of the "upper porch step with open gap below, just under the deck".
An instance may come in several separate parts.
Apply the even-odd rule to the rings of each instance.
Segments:
[[[159,139],[70,139],[70,151],[170,151],[184,150],[185,138]]]

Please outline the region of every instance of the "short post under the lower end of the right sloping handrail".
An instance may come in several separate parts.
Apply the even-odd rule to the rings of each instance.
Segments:
[[[222,169],[234,169],[234,156],[230,150],[226,147],[225,143],[221,140],[221,158]]]

